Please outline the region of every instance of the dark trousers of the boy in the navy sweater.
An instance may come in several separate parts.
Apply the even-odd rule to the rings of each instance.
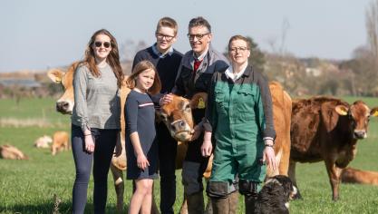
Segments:
[[[163,122],[156,125],[156,135],[159,143],[160,211],[161,214],[173,213],[176,200],[177,141],[170,136],[170,131]]]

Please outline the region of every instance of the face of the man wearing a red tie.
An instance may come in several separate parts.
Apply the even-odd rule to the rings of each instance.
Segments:
[[[199,56],[208,49],[212,34],[208,32],[206,26],[194,26],[189,28],[188,37],[191,50]]]

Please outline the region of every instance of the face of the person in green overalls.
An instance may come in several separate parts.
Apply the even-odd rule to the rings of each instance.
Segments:
[[[231,63],[233,64],[242,65],[244,63],[247,63],[248,57],[250,55],[247,42],[240,39],[232,41],[229,45],[228,55],[231,59]]]

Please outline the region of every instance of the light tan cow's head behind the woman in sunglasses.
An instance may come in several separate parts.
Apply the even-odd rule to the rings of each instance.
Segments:
[[[56,111],[63,114],[73,113],[73,73],[76,70],[78,63],[73,63],[64,73],[59,69],[52,69],[47,72],[48,77],[53,83],[62,84],[64,93],[61,98],[56,102]]]

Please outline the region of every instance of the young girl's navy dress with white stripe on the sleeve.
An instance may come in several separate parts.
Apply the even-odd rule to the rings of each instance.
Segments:
[[[132,90],[125,103],[126,122],[126,156],[127,179],[157,179],[158,178],[158,144],[154,141],[155,109],[150,96],[146,93]],[[131,143],[130,134],[138,131],[141,149],[150,162],[150,166],[141,170],[137,166],[137,157]]]

